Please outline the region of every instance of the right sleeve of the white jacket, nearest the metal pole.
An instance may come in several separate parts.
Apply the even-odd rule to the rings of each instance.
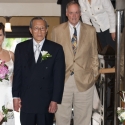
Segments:
[[[115,10],[110,0],[102,0],[102,5],[108,14],[109,24],[110,24],[109,31],[110,33],[113,33],[115,32],[115,24],[116,24]]]

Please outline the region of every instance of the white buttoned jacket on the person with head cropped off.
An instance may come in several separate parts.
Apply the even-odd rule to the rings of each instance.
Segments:
[[[115,12],[110,0],[79,0],[81,6],[81,17],[83,23],[95,27],[96,32],[109,29],[110,33],[115,32]],[[91,19],[91,22],[90,22]]]

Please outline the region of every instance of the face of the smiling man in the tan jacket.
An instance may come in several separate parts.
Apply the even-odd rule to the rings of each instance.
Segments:
[[[73,26],[75,26],[79,22],[80,13],[81,11],[77,4],[72,4],[67,8],[66,16]]]

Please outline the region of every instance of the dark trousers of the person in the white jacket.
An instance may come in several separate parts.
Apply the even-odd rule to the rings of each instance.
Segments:
[[[111,33],[109,33],[109,30],[97,33],[97,36],[102,48],[107,45],[110,45],[114,50],[116,50],[116,42],[112,40]]]

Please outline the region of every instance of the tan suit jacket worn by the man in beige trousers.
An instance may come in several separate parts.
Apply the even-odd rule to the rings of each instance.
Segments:
[[[72,50],[68,22],[60,24],[52,31],[52,40],[61,44],[65,53],[66,76],[74,71],[75,82],[79,91],[89,89],[98,75],[98,53],[96,31],[92,26],[80,22],[80,36],[76,55]]]

